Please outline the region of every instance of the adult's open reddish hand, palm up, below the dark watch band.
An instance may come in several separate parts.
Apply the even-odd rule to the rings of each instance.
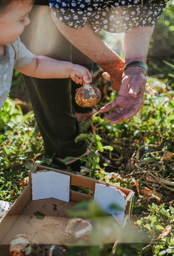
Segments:
[[[106,115],[104,120],[110,120],[110,124],[120,124],[134,117],[143,104],[146,81],[142,67],[129,67],[123,74],[117,98],[100,109],[103,113],[117,108],[115,112]]]

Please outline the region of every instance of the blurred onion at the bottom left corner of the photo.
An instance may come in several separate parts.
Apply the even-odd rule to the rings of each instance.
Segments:
[[[20,234],[13,238],[10,243],[10,255],[25,256],[32,252],[31,237]]]

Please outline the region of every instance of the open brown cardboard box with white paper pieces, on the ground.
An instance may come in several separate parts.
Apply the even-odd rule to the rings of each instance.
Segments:
[[[72,191],[71,186],[90,189],[94,192],[94,197]],[[18,234],[32,236],[42,244],[64,244],[63,231],[59,231],[59,227],[64,226],[67,221],[66,211],[84,200],[97,201],[114,222],[124,225],[132,211],[133,196],[133,191],[112,184],[44,166],[34,166],[29,174],[27,187],[0,222],[0,255],[10,255],[9,244]],[[114,210],[110,207],[111,204],[119,205],[120,210]],[[37,219],[36,212],[44,214],[45,218]]]

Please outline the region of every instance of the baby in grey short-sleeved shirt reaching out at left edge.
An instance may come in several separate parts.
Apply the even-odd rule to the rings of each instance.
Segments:
[[[13,68],[37,78],[71,78],[77,84],[92,83],[89,70],[67,61],[36,56],[19,35],[30,24],[33,0],[0,0],[0,109],[11,87]]]

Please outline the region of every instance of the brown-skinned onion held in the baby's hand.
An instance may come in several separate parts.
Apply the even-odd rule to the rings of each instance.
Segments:
[[[81,107],[94,107],[101,100],[101,91],[95,84],[85,84],[76,89],[75,102]]]

